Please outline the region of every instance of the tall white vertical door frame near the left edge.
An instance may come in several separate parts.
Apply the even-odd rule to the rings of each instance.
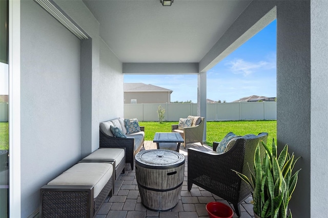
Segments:
[[[9,217],[20,217],[20,1],[9,0]]]

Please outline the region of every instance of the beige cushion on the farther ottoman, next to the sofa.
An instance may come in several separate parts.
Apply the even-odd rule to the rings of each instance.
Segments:
[[[125,150],[122,148],[99,148],[85,157],[83,161],[114,161],[117,166],[124,158]]]

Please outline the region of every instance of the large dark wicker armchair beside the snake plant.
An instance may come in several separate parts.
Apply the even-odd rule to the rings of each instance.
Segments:
[[[249,166],[253,169],[257,144],[261,140],[266,143],[267,139],[268,133],[239,137],[234,146],[223,154],[216,154],[217,143],[213,143],[214,151],[210,152],[189,148],[188,190],[193,184],[198,185],[232,203],[240,216],[240,203],[252,194],[252,189],[232,169],[249,177]],[[263,146],[260,149],[263,158],[265,149]]]

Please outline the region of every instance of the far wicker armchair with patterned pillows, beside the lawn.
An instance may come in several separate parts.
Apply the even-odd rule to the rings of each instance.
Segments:
[[[197,117],[189,116],[197,119]],[[185,143],[183,147],[186,148],[186,145],[189,143],[200,142],[203,144],[203,134],[204,134],[204,118],[200,117],[200,123],[198,125],[192,125],[190,127],[185,127],[183,130],[178,129],[178,125],[172,125],[172,133],[180,133]]]

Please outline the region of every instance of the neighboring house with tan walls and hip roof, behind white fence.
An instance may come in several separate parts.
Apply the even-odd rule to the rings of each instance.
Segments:
[[[170,103],[172,90],[145,83],[124,83],[124,103]]]

